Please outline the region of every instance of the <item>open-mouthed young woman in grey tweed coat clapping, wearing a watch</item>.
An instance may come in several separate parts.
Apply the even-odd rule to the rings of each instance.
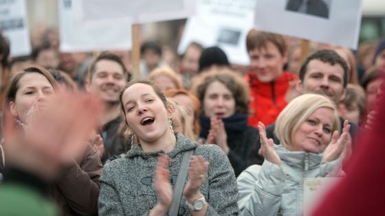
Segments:
[[[236,179],[216,145],[175,135],[166,98],[153,82],[130,82],[120,95],[126,124],[138,142],[104,167],[99,215],[166,215],[184,152],[192,149],[178,215],[237,215]]]

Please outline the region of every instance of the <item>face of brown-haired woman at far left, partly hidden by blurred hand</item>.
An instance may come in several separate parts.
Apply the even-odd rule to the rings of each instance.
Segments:
[[[10,101],[10,111],[14,117],[26,123],[28,111],[32,104],[44,103],[54,94],[54,88],[44,75],[40,73],[26,73],[21,77],[14,101]]]

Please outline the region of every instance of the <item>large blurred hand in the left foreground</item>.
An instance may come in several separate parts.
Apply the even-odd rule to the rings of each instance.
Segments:
[[[5,122],[5,151],[14,166],[52,179],[60,168],[84,154],[87,138],[98,125],[100,101],[83,94],[58,93],[45,101],[43,111],[32,106],[23,130]],[[39,109],[40,110],[40,109]]]

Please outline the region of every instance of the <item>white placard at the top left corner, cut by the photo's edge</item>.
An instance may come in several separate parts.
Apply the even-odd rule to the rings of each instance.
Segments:
[[[24,0],[0,1],[0,29],[10,40],[11,56],[30,55],[31,41]]]

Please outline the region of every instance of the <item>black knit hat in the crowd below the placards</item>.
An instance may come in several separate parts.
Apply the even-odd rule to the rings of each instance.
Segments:
[[[212,65],[230,66],[228,56],[219,47],[208,47],[203,49],[201,57],[199,58],[199,72],[203,71]]]

